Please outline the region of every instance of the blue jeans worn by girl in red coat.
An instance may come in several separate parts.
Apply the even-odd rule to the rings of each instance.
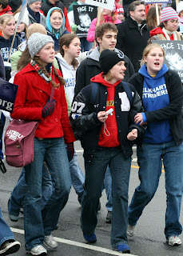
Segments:
[[[53,192],[42,210],[42,165],[46,162],[53,181]],[[42,245],[58,223],[61,210],[70,194],[70,167],[64,138],[34,138],[34,162],[25,166],[26,197],[24,228],[26,250]]]

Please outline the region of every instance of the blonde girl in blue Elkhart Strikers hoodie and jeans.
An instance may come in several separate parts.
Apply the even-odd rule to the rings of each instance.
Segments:
[[[133,236],[142,211],[156,193],[163,162],[167,194],[165,237],[169,246],[178,246],[182,231],[179,216],[183,186],[183,89],[178,74],[163,64],[164,58],[160,45],[146,46],[140,70],[129,79],[145,109],[145,113],[136,114],[134,122],[146,122],[147,129],[142,145],[137,146],[141,184],[129,205],[128,234]]]

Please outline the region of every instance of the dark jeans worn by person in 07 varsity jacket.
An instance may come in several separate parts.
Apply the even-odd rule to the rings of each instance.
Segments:
[[[93,154],[84,154],[86,166],[85,190],[82,198],[82,231],[92,234],[97,226],[97,209],[105,170],[112,175],[113,216],[111,244],[113,248],[127,244],[128,189],[131,158],[126,159],[121,147],[100,147]]]

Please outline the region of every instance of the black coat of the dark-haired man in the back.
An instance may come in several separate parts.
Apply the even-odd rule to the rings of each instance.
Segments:
[[[138,28],[137,22],[128,17],[125,22],[117,25],[117,49],[123,51],[133,64],[135,72],[140,68],[140,60],[143,50],[147,46],[150,37],[149,27],[145,22],[141,23],[141,29]]]

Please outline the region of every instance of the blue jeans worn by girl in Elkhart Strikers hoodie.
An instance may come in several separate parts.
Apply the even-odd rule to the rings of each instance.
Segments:
[[[183,144],[143,144],[137,146],[140,186],[137,186],[129,205],[129,224],[136,225],[145,206],[157,190],[162,161],[165,167],[167,205],[165,213],[165,237],[181,234],[179,222],[183,190]]]

